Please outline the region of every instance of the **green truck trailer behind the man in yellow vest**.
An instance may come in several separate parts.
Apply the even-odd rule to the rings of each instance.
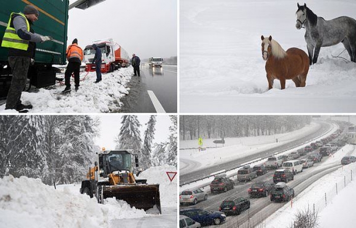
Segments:
[[[37,88],[55,84],[58,68],[52,65],[66,64],[68,10],[76,7],[87,9],[105,0],[79,0],[69,5],[69,0],[2,0],[0,8],[0,42],[12,12],[22,12],[26,5],[35,6],[39,20],[33,25],[36,33],[49,35],[53,41],[36,44],[35,64],[28,70],[30,85]],[[11,69],[8,66],[8,49],[0,45],[0,97],[6,97],[11,83]]]

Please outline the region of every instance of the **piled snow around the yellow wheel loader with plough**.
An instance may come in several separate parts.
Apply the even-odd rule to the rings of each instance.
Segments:
[[[173,207],[173,217],[176,218],[177,179],[175,177],[170,182],[166,171],[176,171],[176,168],[167,165],[153,167],[141,175],[147,178],[148,183],[160,184],[162,214],[172,213],[167,208]],[[109,227],[117,219],[160,216],[131,208],[125,201],[112,198],[107,199],[105,205],[98,204],[96,199],[80,195],[79,188],[80,184],[71,184],[54,189],[40,179],[6,176],[0,179],[1,226],[94,228]]]

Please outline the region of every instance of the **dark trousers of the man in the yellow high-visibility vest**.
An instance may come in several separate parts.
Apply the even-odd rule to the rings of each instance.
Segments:
[[[21,104],[21,93],[26,86],[27,72],[31,58],[11,56],[8,58],[12,70],[11,86],[6,100],[6,109],[15,109]]]

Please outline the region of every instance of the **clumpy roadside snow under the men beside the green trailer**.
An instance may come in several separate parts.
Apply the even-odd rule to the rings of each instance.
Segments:
[[[87,75],[86,75],[87,74]],[[120,99],[129,94],[130,82],[133,74],[132,67],[120,68],[111,73],[103,73],[102,81],[95,84],[96,72],[81,72],[79,90],[74,90],[74,78],[71,78],[72,92],[61,94],[63,85],[56,84],[52,89],[38,89],[38,92],[22,92],[22,103],[31,103],[33,108],[29,112],[39,113],[77,113],[77,112],[118,112],[122,106]],[[63,75],[64,77],[64,75]],[[5,104],[0,106],[1,113],[17,113],[15,110],[4,110]]]

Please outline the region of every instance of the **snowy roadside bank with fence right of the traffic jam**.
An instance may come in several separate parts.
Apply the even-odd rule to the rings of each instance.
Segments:
[[[333,157],[319,166],[321,169],[329,164],[340,164],[341,159],[345,155],[356,155],[356,147],[354,145],[346,145]],[[353,181],[351,180],[351,170],[353,171]],[[343,166],[338,170],[323,176],[302,193],[293,199],[293,206],[290,204],[284,205],[268,219],[265,220],[265,227],[268,228],[285,228],[289,227],[294,220],[294,215],[298,210],[309,208],[319,211],[320,227],[354,227],[356,218],[354,217],[354,205],[356,203],[356,187],[355,181],[356,163]],[[350,183],[344,188],[344,176],[346,183]],[[336,195],[336,184],[338,183],[338,194]],[[344,188],[344,189],[343,189]],[[325,193],[327,193],[327,207],[325,208]]]

